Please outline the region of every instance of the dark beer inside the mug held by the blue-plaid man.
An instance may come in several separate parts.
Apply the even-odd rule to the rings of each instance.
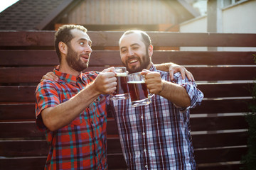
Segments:
[[[128,81],[131,101],[139,101],[148,98],[148,90],[145,81]]]

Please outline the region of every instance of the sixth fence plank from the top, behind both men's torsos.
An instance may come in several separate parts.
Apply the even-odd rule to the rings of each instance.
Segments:
[[[239,130],[246,128],[247,123],[242,115],[191,118],[192,131]],[[0,132],[1,137],[4,138],[44,137],[44,133],[36,128],[34,121],[0,122]],[[118,135],[117,125],[113,118],[107,120],[107,135]]]

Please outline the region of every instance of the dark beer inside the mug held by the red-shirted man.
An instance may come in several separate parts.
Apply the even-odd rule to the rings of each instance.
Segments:
[[[115,94],[127,94],[127,73],[117,73],[117,89]]]

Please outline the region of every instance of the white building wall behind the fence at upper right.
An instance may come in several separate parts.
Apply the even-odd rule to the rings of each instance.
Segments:
[[[225,0],[223,0],[225,1]],[[222,9],[219,33],[256,33],[256,0]],[[207,17],[194,18],[180,24],[181,33],[207,33]],[[181,47],[181,50],[207,50],[206,47]],[[224,51],[256,51],[255,47],[218,47]]]

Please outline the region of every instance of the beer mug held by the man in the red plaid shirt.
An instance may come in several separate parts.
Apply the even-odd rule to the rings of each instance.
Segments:
[[[110,99],[122,100],[129,98],[126,67],[114,67],[114,72],[117,73],[117,89],[110,96]]]

